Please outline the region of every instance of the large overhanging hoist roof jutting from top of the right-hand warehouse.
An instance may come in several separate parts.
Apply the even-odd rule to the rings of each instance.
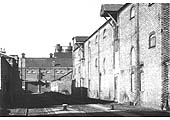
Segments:
[[[117,18],[117,13],[121,7],[123,7],[123,4],[103,4],[101,6],[100,16],[109,17],[109,13],[112,17]]]

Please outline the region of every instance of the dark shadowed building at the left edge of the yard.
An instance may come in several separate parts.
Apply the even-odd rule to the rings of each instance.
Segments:
[[[16,97],[22,94],[21,86],[18,57],[0,53],[0,108],[15,104]]]

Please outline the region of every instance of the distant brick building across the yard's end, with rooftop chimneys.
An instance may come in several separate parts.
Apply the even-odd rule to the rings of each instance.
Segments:
[[[20,60],[20,71],[20,77],[23,80],[23,88],[27,92],[61,92],[62,89],[66,89],[71,93],[70,77],[62,77],[72,71],[71,44],[64,47],[57,44],[54,55],[50,53],[49,58],[27,58],[25,54],[23,54]],[[68,74],[68,76],[71,76],[71,73]],[[58,81],[60,77],[62,77],[62,81],[56,83],[55,81]],[[66,88],[64,86],[66,84],[66,82],[64,82],[65,79],[67,79],[67,83],[70,83]],[[58,86],[60,87],[58,88]]]

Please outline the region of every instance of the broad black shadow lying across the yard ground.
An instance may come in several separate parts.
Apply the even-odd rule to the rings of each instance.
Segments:
[[[11,108],[44,108],[62,104],[105,104],[110,102],[113,101],[65,95],[57,92],[47,92],[43,94],[26,94],[18,96],[16,97],[15,105],[11,106]]]

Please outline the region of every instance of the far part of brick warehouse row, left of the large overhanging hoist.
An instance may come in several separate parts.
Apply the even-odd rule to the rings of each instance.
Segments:
[[[88,97],[116,99],[113,93],[114,82],[110,80],[116,75],[115,68],[118,63],[113,54],[114,29],[110,19],[88,38],[83,37],[83,40],[82,36],[73,38],[76,45],[73,50],[73,79],[75,86],[80,87],[80,94],[85,92],[82,92],[82,88],[83,90],[88,88]]]

